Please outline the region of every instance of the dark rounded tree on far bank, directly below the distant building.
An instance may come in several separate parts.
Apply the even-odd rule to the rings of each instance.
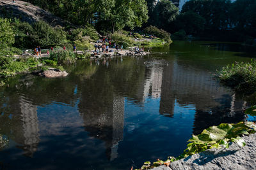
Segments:
[[[188,11],[178,15],[175,22],[177,30],[184,29],[187,34],[199,34],[204,31],[205,19],[195,12]]]

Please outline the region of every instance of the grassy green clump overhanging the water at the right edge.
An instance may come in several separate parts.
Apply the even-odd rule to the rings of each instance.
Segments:
[[[218,78],[237,92],[252,94],[256,92],[256,60],[251,62],[236,62],[223,67]]]

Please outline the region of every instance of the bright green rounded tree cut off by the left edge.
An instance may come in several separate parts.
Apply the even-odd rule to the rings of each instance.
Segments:
[[[0,18],[0,55],[6,54],[14,43],[14,32],[10,20]]]

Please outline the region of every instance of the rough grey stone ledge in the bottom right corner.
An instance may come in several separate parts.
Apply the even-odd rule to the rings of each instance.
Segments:
[[[232,143],[229,148],[212,148],[172,162],[168,167],[159,166],[152,170],[256,169],[256,134],[245,136],[244,141],[246,145],[243,148]]]

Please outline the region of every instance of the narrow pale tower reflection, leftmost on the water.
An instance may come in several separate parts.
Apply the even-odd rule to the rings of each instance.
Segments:
[[[36,152],[39,143],[39,127],[36,106],[25,99],[20,99],[20,116],[22,117],[22,130],[24,132],[24,143],[22,149],[25,155],[32,156]]]

